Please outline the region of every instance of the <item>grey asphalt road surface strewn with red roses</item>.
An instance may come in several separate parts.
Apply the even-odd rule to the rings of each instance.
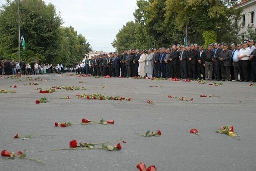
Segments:
[[[0,171],[137,171],[144,162],[159,171],[255,171],[256,170],[256,87],[248,82],[223,82],[214,86],[198,82],[124,78],[81,78],[77,76],[31,76],[42,81],[0,78],[0,150],[27,150],[27,157],[46,163],[0,157]],[[18,81],[22,80],[22,81]],[[79,81],[83,81],[80,83]],[[38,82],[39,85],[23,85]],[[13,88],[17,85],[17,88]],[[36,87],[84,86],[87,90],[57,90],[40,94]],[[108,87],[101,88],[100,85]],[[150,86],[158,87],[150,87]],[[11,87],[10,87],[11,86]],[[131,97],[131,101],[77,99],[77,94],[103,93]],[[201,98],[200,95],[212,95]],[[179,101],[168,95],[194,98]],[[69,96],[70,99],[60,99]],[[49,102],[35,104],[46,97]],[[155,104],[147,104],[147,100]],[[54,122],[79,123],[82,118],[115,124],[55,127]],[[233,125],[236,140],[215,133],[221,126]],[[202,140],[190,129],[197,128]],[[147,130],[161,130],[159,137],[141,137]],[[14,139],[18,133],[34,137]],[[69,141],[105,142],[126,137],[122,150],[66,150]],[[117,143],[109,143],[116,145]]]

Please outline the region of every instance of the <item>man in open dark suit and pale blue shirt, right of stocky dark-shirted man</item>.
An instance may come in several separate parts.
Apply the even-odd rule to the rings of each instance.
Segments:
[[[214,72],[214,76],[215,76],[215,80],[219,81],[221,78],[220,75],[220,61],[219,61],[219,54],[222,51],[222,49],[220,48],[220,44],[219,43],[214,43],[214,47],[215,47],[215,52],[213,55],[213,72]]]

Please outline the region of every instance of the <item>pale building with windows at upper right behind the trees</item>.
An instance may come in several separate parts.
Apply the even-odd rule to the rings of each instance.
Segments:
[[[238,26],[240,25],[240,31],[238,36],[244,40],[247,29],[255,29],[256,22],[256,0],[243,0],[235,6],[235,9],[242,9],[241,19],[238,21]]]

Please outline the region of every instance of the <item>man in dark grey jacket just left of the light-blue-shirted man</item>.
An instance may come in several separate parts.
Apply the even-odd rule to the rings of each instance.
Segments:
[[[228,50],[228,45],[223,45],[223,51],[220,52],[219,61],[221,67],[222,81],[229,81],[230,66],[231,66],[231,50]]]

